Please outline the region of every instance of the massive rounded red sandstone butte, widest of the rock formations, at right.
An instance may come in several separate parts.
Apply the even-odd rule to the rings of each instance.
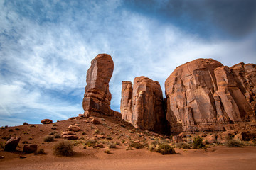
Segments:
[[[166,119],[171,132],[233,129],[255,120],[255,64],[223,66],[198,59],[166,79]]]

